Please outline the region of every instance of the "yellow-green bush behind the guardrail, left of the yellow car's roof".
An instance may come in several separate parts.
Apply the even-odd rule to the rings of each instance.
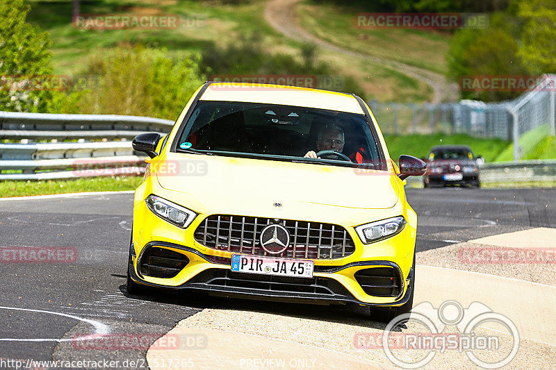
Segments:
[[[172,58],[163,51],[124,47],[92,58],[70,94],[52,110],[176,119],[204,81],[197,58]],[[65,105],[64,103],[67,103]]]

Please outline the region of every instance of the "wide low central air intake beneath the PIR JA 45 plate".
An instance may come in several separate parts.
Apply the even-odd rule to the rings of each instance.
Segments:
[[[250,289],[250,291],[277,292],[285,294],[319,294],[327,296],[350,296],[347,289],[330,278],[290,278],[284,276],[252,275],[232,272],[228,269],[207,269],[188,283],[213,287]]]

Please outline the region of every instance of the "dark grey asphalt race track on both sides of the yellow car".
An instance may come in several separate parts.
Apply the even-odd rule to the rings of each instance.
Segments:
[[[555,189],[446,188],[407,194],[418,213],[417,251],[531,227],[556,227]],[[77,255],[74,263],[0,264],[0,363],[133,360],[138,365],[133,368],[147,369],[147,348],[83,350],[72,339],[104,330],[152,333],[154,342],[203,308],[268,310],[261,302],[202,294],[129,296],[124,283],[132,199],[132,194],[95,194],[0,201],[0,247],[67,247]],[[286,314],[313,310],[325,320],[352,314],[340,307],[273,308]]]

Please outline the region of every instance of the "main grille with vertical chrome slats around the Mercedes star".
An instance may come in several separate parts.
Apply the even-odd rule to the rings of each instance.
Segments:
[[[311,260],[342,258],[355,246],[342,226],[318,222],[277,220],[262,217],[211,215],[195,230],[195,240],[208,248],[250,255],[271,255],[261,246],[261,231],[271,223],[284,226],[290,234],[288,248],[274,257]]]

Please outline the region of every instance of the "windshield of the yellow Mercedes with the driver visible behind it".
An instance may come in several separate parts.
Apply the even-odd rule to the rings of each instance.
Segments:
[[[176,151],[383,169],[365,115],[299,106],[199,101]]]

